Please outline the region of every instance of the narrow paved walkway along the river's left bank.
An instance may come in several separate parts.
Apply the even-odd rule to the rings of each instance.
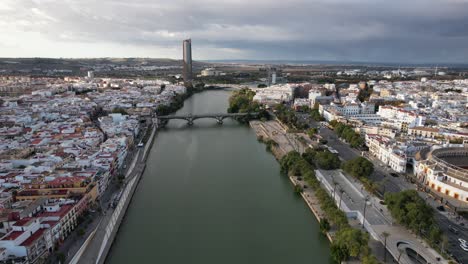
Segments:
[[[153,125],[151,135],[145,148],[138,150],[129,171],[125,175],[124,187],[122,188],[122,195],[118,205],[115,209],[112,209],[110,206],[109,208],[103,208],[103,218],[98,227],[91,233],[88,239],[86,239],[85,243],[69,263],[98,264],[105,262],[122,219],[125,216],[133,194],[138,186],[138,182],[145,170],[146,159],[153,145],[155,135],[156,126]]]

